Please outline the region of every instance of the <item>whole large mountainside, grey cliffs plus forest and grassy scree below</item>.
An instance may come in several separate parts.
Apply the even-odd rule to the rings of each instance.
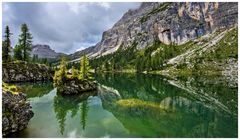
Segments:
[[[81,54],[95,71],[214,74],[236,82],[237,15],[236,3],[142,3]]]

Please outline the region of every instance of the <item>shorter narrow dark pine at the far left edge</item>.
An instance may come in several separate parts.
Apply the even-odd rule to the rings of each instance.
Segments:
[[[10,29],[8,26],[5,28],[5,35],[4,35],[4,41],[2,42],[2,60],[3,61],[10,61],[11,59],[11,37],[12,33],[10,32]]]

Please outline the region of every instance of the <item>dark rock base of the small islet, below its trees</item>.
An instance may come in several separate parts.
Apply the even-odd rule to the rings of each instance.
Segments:
[[[97,90],[95,81],[80,80],[78,78],[65,79],[62,87],[57,87],[59,93],[62,94],[80,94],[86,91]]]

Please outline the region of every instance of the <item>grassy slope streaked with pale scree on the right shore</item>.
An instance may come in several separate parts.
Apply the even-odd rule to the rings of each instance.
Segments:
[[[173,78],[180,76],[179,71],[184,69],[201,76],[217,74],[235,88],[238,85],[237,44],[237,27],[195,39],[188,50],[167,61],[168,67],[161,74]]]

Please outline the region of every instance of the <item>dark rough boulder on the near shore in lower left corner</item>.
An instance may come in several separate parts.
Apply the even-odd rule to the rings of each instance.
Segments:
[[[23,93],[13,94],[3,90],[2,94],[2,134],[23,130],[34,113]]]

